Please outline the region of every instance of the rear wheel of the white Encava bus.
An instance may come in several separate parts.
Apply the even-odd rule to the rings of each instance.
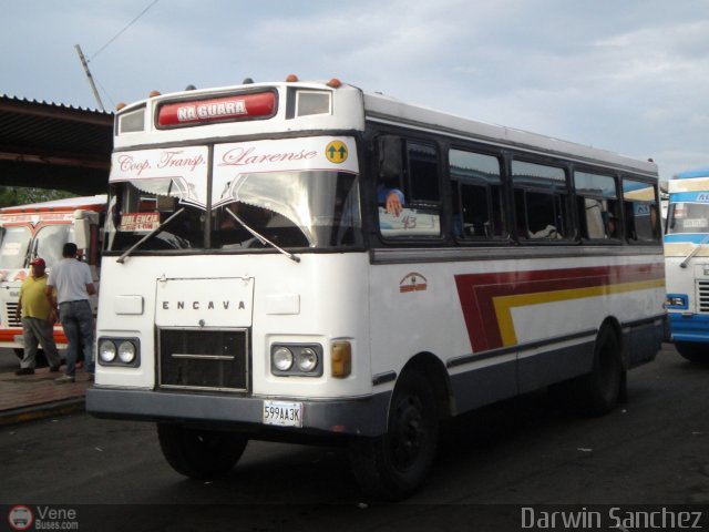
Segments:
[[[572,381],[574,403],[582,413],[603,416],[618,405],[626,380],[620,355],[615,331],[602,328],[596,337],[592,371]]]

